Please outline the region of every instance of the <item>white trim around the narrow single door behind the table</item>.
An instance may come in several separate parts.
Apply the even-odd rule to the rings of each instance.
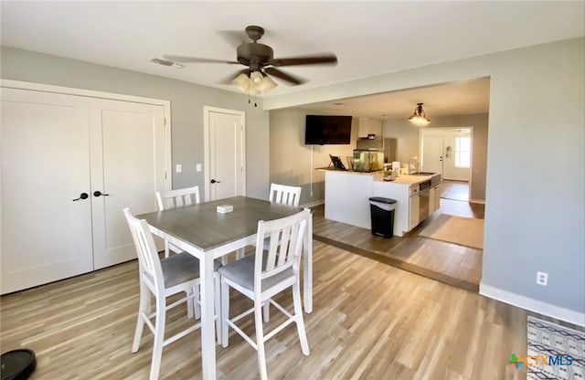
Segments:
[[[209,147],[209,114],[211,112],[222,112],[228,113],[230,115],[239,116],[241,122],[241,164],[242,164],[242,171],[241,171],[241,186],[242,186],[242,195],[246,195],[246,112],[244,111],[237,111],[237,110],[228,110],[225,108],[218,108],[218,107],[210,107],[210,106],[203,106],[203,145],[204,145],[204,159],[203,159],[203,167],[204,167],[204,190],[205,190],[205,200],[209,201],[210,197],[210,185],[209,181],[211,178],[209,176],[209,154],[210,147]]]

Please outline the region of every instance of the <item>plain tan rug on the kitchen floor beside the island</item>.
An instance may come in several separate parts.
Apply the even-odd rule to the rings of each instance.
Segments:
[[[484,219],[440,214],[419,236],[484,249]]]

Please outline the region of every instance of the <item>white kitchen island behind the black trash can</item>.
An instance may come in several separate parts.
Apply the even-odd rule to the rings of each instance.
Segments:
[[[319,170],[325,172],[325,219],[369,229],[369,198],[383,196],[397,201],[394,235],[402,237],[439,208],[440,174],[402,174],[384,181],[382,172]]]

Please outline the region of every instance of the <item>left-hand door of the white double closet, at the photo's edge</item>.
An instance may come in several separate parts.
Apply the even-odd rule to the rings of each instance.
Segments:
[[[87,100],[1,90],[2,294],[93,269]]]

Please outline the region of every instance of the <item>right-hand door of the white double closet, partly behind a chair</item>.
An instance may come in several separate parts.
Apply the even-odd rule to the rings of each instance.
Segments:
[[[122,209],[156,210],[154,193],[165,189],[165,118],[163,106],[117,100],[94,100],[90,115],[93,257],[101,269],[136,258]]]

